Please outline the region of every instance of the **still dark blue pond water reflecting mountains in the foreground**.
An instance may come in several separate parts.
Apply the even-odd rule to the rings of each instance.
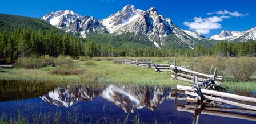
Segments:
[[[256,123],[256,111],[220,103],[215,107],[203,104],[198,109],[193,102],[186,101],[185,94],[169,87],[96,84],[56,86],[27,81],[0,81],[0,86],[0,121]]]

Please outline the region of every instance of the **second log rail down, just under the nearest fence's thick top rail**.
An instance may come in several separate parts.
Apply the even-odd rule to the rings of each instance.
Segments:
[[[194,93],[194,92],[186,91],[185,93],[189,93],[190,95],[193,95],[193,96],[198,96],[198,94],[197,94],[197,93]],[[205,95],[205,98],[206,98],[206,99],[209,99],[209,100],[213,100],[213,101],[218,101],[218,102],[222,102],[222,103],[225,103],[225,104],[229,104],[229,105],[239,106],[239,107],[241,107],[241,108],[256,110],[256,106],[251,106],[251,105],[246,105],[246,104],[240,104],[240,103],[238,103],[238,102],[233,102],[233,101],[229,101],[229,100],[223,100],[223,99],[221,99],[221,98],[215,98],[215,97],[207,96],[207,95]]]

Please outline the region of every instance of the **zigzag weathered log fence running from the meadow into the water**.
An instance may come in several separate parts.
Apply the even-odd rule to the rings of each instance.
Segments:
[[[172,95],[172,97],[175,99],[175,106],[178,111],[186,111],[186,112],[194,113],[193,123],[198,123],[199,114],[207,114],[207,115],[256,121],[256,118],[254,115],[248,115],[248,114],[256,114],[256,106],[246,105],[239,102],[231,101],[231,100],[238,100],[238,101],[246,101],[246,102],[251,102],[253,104],[256,104],[256,98],[239,96],[236,94],[210,90],[210,89],[214,89],[215,88],[214,86],[221,85],[221,82],[223,80],[222,76],[217,75],[216,68],[214,69],[214,73],[212,73],[214,65],[211,65],[209,74],[205,74],[205,73],[195,72],[190,69],[187,69],[190,67],[186,65],[182,65],[181,67],[178,67],[175,59],[174,59],[174,64],[170,64],[170,61],[168,61],[167,64],[156,64],[154,60],[152,61],[152,63],[150,63],[150,60],[147,60],[147,62],[144,62],[144,61],[138,62],[137,60],[135,61],[126,60],[124,61],[124,63],[134,64],[138,67],[146,67],[150,69],[152,68],[156,72],[170,72],[171,78],[192,83],[193,87],[177,85],[177,88],[176,88],[177,91],[175,91],[176,96],[174,97]],[[189,97],[186,97],[185,99],[177,97],[177,92],[181,92],[181,91],[186,95],[188,95]],[[223,97],[228,98],[229,100],[223,99]],[[177,100],[186,100],[187,103],[194,102],[195,105],[196,104],[199,104],[199,105],[194,106],[189,104],[185,106],[179,106],[177,105]],[[223,106],[223,103],[238,106],[239,108],[245,108],[245,109],[225,108],[225,106]],[[244,113],[247,113],[247,114],[244,114]]]

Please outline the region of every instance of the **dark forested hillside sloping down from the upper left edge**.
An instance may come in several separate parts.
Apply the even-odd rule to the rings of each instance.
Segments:
[[[39,28],[41,30],[58,30],[59,32],[63,32],[58,28],[51,26],[51,24],[36,18],[30,18],[25,16],[18,15],[7,15],[0,14],[0,31],[14,31],[17,28],[27,28],[31,27],[32,30],[37,31]]]

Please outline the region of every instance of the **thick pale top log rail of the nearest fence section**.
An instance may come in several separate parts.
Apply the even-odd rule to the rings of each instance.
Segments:
[[[189,86],[177,85],[177,89],[178,90],[187,90],[187,91],[195,92],[195,89],[193,89]],[[236,94],[218,92],[218,91],[207,90],[207,89],[201,89],[201,92],[205,93],[205,94],[214,95],[214,96],[226,97],[226,98],[231,98],[231,99],[234,99],[234,100],[241,100],[241,101],[256,103],[256,98],[253,98],[253,97],[240,96],[240,95],[236,95]]]

